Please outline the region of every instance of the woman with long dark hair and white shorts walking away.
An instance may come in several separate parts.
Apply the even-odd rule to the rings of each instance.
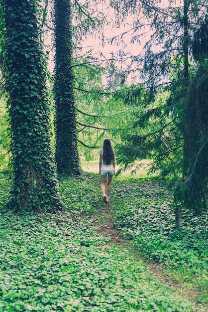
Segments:
[[[110,188],[112,176],[115,173],[115,152],[111,147],[109,139],[104,139],[103,150],[100,152],[100,170],[101,175],[101,190],[103,193],[104,202],[110,199]],[[107,192],[105,194],[105,178],[107,176]]]

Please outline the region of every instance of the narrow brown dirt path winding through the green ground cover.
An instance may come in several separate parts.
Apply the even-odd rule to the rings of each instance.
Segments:
[[[112,213],[110,211],[111,203],[103,204],[97,210],[97,214],[87,217],[88,221],[91,222],[99,233],[104,236],[110,237],[110,243],[116,244],[120,248],[128,249],[134,259],[138,259],[136,251],[133,249],[129,241],[125,241],[121,237],[121,232],[113,225]],[[173,289],[174,292],[181,297],[187,298],[191,302],[195,303],[196,307],[194,312],[208,312],[208,309],[197,302],[197,297],[200,292],[193,287],[190,288],[188,284],[183,282],[178,282],[174,280],[174,277],[165,270],[162,266],[157,263],[150,263],[143,259],[147,264],[148,269],[151,274],[155,276],[156,279],[161,281],[167,288]]]

